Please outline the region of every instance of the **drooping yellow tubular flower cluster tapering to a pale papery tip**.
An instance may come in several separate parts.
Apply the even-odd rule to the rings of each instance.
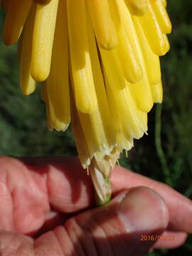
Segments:
[[[48,128],[72,124],[83,168],[102,202],[110,172],[147,113],[162,102],[159,56],[169,50],[164,0],[3,0],[4,42],[19,40],[21,90],[41,85]]]

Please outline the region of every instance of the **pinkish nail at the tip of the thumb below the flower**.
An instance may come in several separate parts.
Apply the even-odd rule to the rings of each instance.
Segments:
[[[162,198],[150,188],[132,188],[118,206],[127,232],[147,233],[166,228],[168,212]]]

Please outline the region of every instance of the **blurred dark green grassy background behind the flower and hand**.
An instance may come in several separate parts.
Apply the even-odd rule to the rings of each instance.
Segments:
[[[149,114],[149,135],[119,162],[192,198],[192,1],[168,0],[168,9],[174,28],[171,50],[161,58],[164,104]],[[1,11],[1,31],[3,22]],[[39,90],[28,97],[21,94],[16,46],[0,43],[0,56],[0,154],[76,155],[70,129],[48,131]],[[154,255],[192,255],[192,238],[176,250],[157,250]]]

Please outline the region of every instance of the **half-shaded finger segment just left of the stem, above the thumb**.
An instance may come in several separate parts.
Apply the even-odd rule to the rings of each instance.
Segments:
[[[80,168],[76,164],[74,167]],[[53,208],[71,213],[85,208],[85,205],[90,206],[92,183],[88,182],[90,177],[86,175],[85,171],[83,173],[78,173],[78,171],[69,173],[66,171],[67,169],[68,166],[63,166],[60,161],[57,164],[48,165],[48,196]],[[82,174],[84,175],[82,176]],[[58,186],[55,187],[55,183]],[[68,191],[68,193],[65,193],[65,191]],[[65,205],[68,205],[68,208],[65,208]]]

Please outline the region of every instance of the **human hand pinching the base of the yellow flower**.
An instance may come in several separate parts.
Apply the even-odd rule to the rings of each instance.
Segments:
[[[112,201],[92,208],[92,183],[78,159],[2,156],[0,255],[139,256],[177,247],[192,232],[191,201],[163,183],[117,166],[112,185]],[[142,241],[161,233],[174,240]]]

